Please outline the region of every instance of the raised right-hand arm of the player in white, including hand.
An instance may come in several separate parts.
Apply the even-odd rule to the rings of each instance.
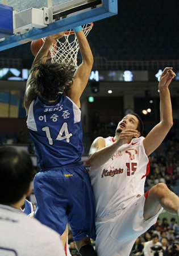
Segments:
[[[150,155],[160,146],[173,125],[172,104],[168,86],[175,76],[176,74],[172,71],[172,68],[165,68],[161,74],[159,82],[161,120],[144,139],[143,143],[147,155]]]

